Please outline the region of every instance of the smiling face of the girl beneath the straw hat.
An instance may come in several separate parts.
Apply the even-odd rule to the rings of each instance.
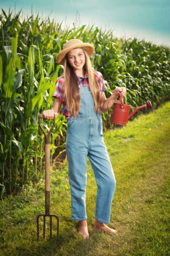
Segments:
[[[76,73],[84,71],[85,55],[81,48],[75,48],[67,54],[68,62]]]

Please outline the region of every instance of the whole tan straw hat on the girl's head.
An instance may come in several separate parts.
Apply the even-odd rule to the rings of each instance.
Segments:
[[[91,43],[83,43],[79,39],[71,39],[66,42],[63,46],[63,50],[57,55],[57,62],[61,65],[64,65],[65,55],[72,49],[83,48],[87,51],[89,57],[91,57],[95,52],[95,47]]]

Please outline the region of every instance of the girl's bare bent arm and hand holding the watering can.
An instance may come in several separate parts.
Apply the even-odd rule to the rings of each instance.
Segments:
[[[126,88],[125,87],[117,87],[114,89],[112,95],[109,98],[106,98],[105,93],[103,93],[100,97],[100,109],[102,113],[105,113],[112,107],[115,100],[119,96],[120,92],[123,91],[123,96],[126,94]],[[109,103],[109,101],[112,101]]]

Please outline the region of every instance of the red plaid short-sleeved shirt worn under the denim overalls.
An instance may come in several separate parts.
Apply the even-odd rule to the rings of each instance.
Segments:
[[[94,71],[95,77],[98,80],[99,89],[100,89],[100,95],[106,90],[106,85],[103,80],[103,76],[100,72]],[[75,73],[76,74],[76,73]],[[87,75],[85,77],[80,77],[76,74],[77,80],[78,80],[78,86],[81,87],[89,87],[89,80]],[[61,76],[57,79],[55,84],[55,91],[53,94],[53,97],[59,98],[59,100],[62,101],[62,115],[65,116],[66,120],[68,120],[70,116],[70,111],[67,109],[67,104],[65,101],[65,95],[64,95],[64,76]]]

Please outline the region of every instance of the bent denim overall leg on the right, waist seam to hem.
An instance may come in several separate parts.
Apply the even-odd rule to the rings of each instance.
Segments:
[[[91,120],[91,139],[88,158],[94,170],[98,186],[95,219],[108,224],[111,215],[111,203],[116,189],[116,180],[104,143],[101,120]],[[98,133],[93,133],[98,130]]]

